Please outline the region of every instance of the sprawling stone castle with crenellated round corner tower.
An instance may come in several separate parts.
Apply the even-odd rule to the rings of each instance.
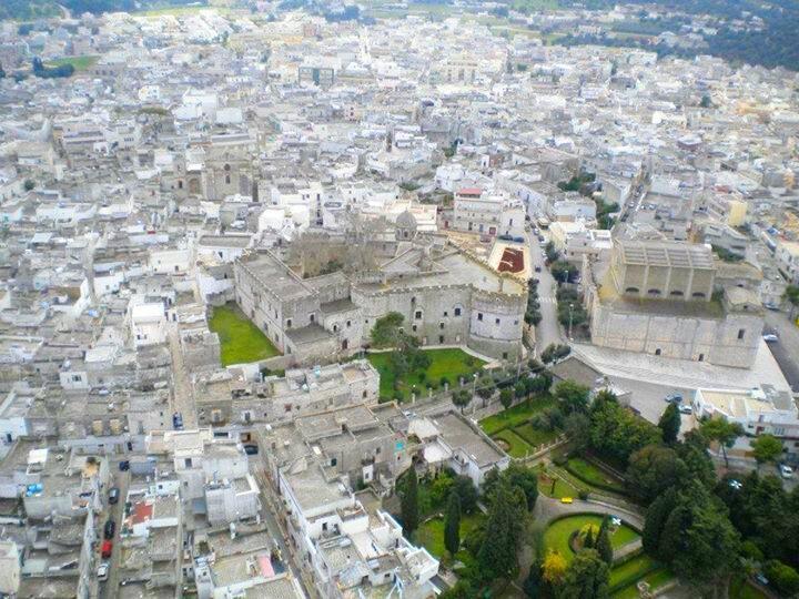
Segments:
[[[405,231],[397,235],[406,238]],[[297,363],[357,351],[390,312],[402,314],[405,332],[426,346],[466,346],[502,359],[522,355],[525,285],[444,236],[408,240],[391,260],[352,276],[303,280],[275,254],[252,252],[236,262],[235,297]]]

